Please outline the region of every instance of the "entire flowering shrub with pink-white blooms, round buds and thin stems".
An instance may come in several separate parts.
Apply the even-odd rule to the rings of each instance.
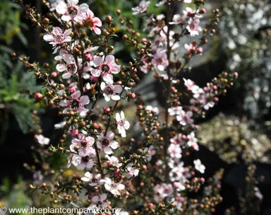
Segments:
[[[127,32],[122,39],[135,50],[135,59],[126,65],[116,59],[114,47],[110,45],[112,38],[118,36],[111,16],[106,16],[102,23],[88,4],[58,0],[50,6],[53,17],[61,23],[54,26],[48,18],[40,20],[42,16],[37,16],[30,6],[19,3],[33,23],[42,28],[43,39],[52,45],[56,54],[51,67],[19,58],[35,71],[37,78],[44,80],[44,91],[36,93],[34,98],[57,108],[64,117],[63,122],[55,124],[64,134],[59,145],[50,146],[49,151],[61,151],[68,159],[68,168],[74,165],[80,170],[72,179],[65,178],[64,170],[47,171],[47,175],[55,175],[57,180],[54,189],[47,185],[31,185],[31,189],[41,189],[56,202],[60,196],[61,201],[77,202],[82,207],[112,209],[121,199],[127,201],[125,209],[130,210],[132,204],[128,201],[142,204],[144,199],[147,203],[143,204],[142,214],[148,211],[169,214],[172,210],[180,214],[194,209],[210,213],[220,199],[217,187],[221,174],[210,180],[214,185],[207,185],[211,187],[207,192],[216,188],[212,192],[214,197],[206,200],[212,207],[200,207],[200,202],[192,207],[185,202],[186,194],[198,192],[205,185],[201,175],[205,173],[205,165],[198,158],[192,158],[189,163],[187,157],[200,148],[196,119],[204,117],[205,111],[218,102],[218,96],[226,93],[237,74],[223,72],[204,88],[190,79],[180,80],[180,74],[183,77],[189,70],[188,64],[195,54],[203,54],[207,36],[215,33],[212,28],[219,20],[219,11],[213,11],[210,23],[203,29],[200,26],[200,19],[206,13],[203,0],[195,1],[195,10],[186,5],[191,0],[159,1],[156,6],[167,8],[167,16],[149,16],[144,28],[147,38],[141,38],[133,28],[133,21],[117,10],[121,28]],[[186,9],[183,14],[174,14],[179,4],[184,4]],[[149,6],[150,1],[141,1],[131,12],[135,16],[147,15]],[[180,42],[181,37],[195,38],[201,33],[198,42],[191,40],[189,45]],[[180,49],[186,50],[186,54],[181,56]],[[140,71],[153,73],[161,83],[164,108],[147,105],[140,93],[133,93]],[[181,85],[185,86],[184,91]],[[125,105],[119,105],[123,100],[135,103],[139,123],[131,120],[133,111],[126,112]],[[135,133],[138,129],[140,135]],[[35,139],[42,145],[49,144],[49,139],[42,134]],[[140,183],[138,187],[133,182],[135,177]],[[84,201],[78,201],[77,195],[69,192],[80,194],[83,189],[88,198]]]

